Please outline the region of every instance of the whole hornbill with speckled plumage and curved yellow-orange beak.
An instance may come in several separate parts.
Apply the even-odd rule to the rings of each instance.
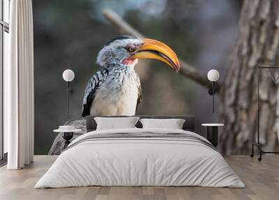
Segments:
[[[101,69],[88,81],[82,116],[135,115],[142,99],[140,78],[134,70],[137,59],[158,59],[179,71],[179,60],[164,43],[148,38],[116,36],[100,50]]]

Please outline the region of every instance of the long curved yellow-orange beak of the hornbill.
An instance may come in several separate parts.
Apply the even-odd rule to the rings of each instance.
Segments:
[[[143,40],[144,44],[140,46],[133,58],[158,59],[168,64],[176,72],[179,71],[179,59],[171,48],[156,40],[146,38]]]

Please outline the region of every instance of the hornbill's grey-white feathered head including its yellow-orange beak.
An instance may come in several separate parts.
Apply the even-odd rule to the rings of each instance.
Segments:
[[[164,43],[147,38],[116,36],[98,53],[97,63],[106,69],[115,66],[135,66],[137,59],[158,59],[179,71],[179,59]]]

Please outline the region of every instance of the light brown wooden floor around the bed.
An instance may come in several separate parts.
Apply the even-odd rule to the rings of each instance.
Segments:
[[[36,156],[31,166],[19,171],[0,169],[0,199],[279,199],[279,156],[225,157],[246,188],[213,187],[70,187],[33,189],[55,156]]]

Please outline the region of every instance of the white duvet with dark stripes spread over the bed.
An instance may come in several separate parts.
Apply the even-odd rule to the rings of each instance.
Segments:
[[[91,131],[70,143],[35,188],[102,186],[245,187],[225,159],[209,145],[183,138],[99,138],[95,134],[177,133],[177,129]],[[83,141],[84,140],[84,141]]]

